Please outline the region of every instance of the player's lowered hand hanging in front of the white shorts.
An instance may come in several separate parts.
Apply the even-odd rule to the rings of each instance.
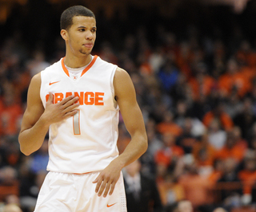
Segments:
[[[122,167],[117,164],[117,161],[113,160],[104,170],[100,172],[98,177],[93,183],[97,183],[95,192],[98,196],[101,196],[103,191],[103,197],[106,198],[107,194],[113,194],[114,186],[118,182]]]

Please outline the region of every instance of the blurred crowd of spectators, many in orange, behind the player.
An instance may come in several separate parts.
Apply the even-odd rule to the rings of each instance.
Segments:
[[[118,41],[118,48],[102,41],[94,50],[126,69],[134,82],[149,142],[139,171],[154,179],[162,211],[182,212],[175,206],[184,200],[198,212],[254,206],[254,42],[238,29],[228,40],[205,36],[197,26],[184,29],[182,39],[161,25],[154,26],[154,31],[154,42],[148,39],[150,29],[138,27]],[[31,77],[63,57],[63,46],[64,41],[57,38],[49,57],[40,45],[29,50],[20,33],[2,41],[0,195],[4,186],[16,185],[18,191],[0,196],[0,211],[14,205],[23,212],[34,209],[46,175],[48,138],[37,152],[25,156],[19,150],[18,132]],[[121,116],[120,153],[129,142]]]

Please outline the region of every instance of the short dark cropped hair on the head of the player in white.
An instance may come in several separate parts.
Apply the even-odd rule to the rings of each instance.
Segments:
[[[69,29],[73,24],[74,16],[86,16],[95,18],[94,13],[85,6],[70,6],[64,10],[61,15],[61,29]]]

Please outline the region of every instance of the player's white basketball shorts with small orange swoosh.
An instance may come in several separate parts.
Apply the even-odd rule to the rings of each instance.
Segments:
[[[34,212],[126,212],[122,173],[114,192],[103,198],[92,183],[99,171],[76,175],[49,172],[38,194]]]

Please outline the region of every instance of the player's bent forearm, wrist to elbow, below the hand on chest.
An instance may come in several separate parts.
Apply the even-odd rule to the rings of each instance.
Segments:
[[[48,132],[49,124],[42,117],[32,128],[24,129],[18,135],[20,149],[24,155],[30,155],[37,151],[41,146]]]

